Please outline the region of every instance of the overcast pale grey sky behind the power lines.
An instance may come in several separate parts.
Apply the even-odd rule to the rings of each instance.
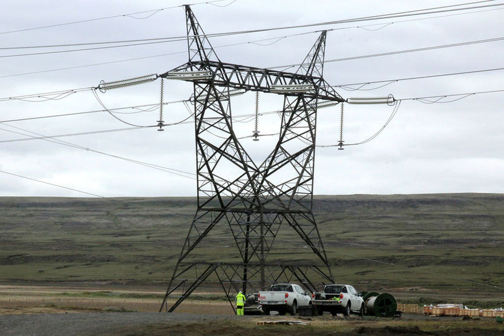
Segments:
[[[236,0],[229,6],[218,7],[229,3],[230,0],[193,6],[206,33],[303,25],[466,2]],[[471,6],[499,3],[504,2],[493,1]],[[120,16],[181,4],[183,2],[180,1],[145,0],[4,0],[0,13],[0,46],[8,48],[182,36],[185,35],[185,15],[180,7]],[[268,68],[301,62],[319,35],[314,31],[321,29],[335,29],[327,35],[326,60],[499,38],[504,32],[503,9],[504,6],[488,7],[463,12],[230,35],[212,38],[211,42],[223,62]],[[149,16],[151,14],[153,15]],[[113,18],[24,30],[111,16]],[[16,30],[23,31],[12,32]],[[298,33],[307,34],[288,36],[277,42],[275,39],[258,41]],[[225,46],[246,41],[250,43]],[[337,86],[500,68],[503,67],[503,46],[502,40],[498,40],[330,62],[325,65],[324,77],[331,85]],[[0,98],[88,88],[98,85],[101,80],[160,74],[187,61],[184,41],[6,57],[83,47],[85,46],[0,50]],[[136,58],[141,59],[117,62]],[[94,65],[99,63],[102,64]],[[61,68],[72,69],[48,71]],[[502,70],[499,70],[399,81],[369,91],[336,89],[344,98],[393,94],[396,99],[403,99],[501,90],[504,89],[502,78]],[[156,80],[149,84],[99,93],[99,97],[108,108],[156,104],[159,103],[159,85],[159,80]],[[372,89],[376,86],[379,85],[364,88]],[[165,81],[165,101],[187,99],[191,94],[191,83]],[[451,99],[453,98],[457,97]],[[504,95],[499,92],[472,95],[454,102],[440,100],[444,103],[402,101],[392,122],[374,140],[348,146],[345,150],[337,150],[335,147],[317,148],[314,193],[504,192],[503,98]],[[253,113],[254,103],[253,93],[232,100],[233,115]],[[260,95],[261,112],[281,107],[279,95]],[[102,107],[90,91],[74,93],[64,99],[40,102],[11,99],[0,101],[0,121],[99,109]],[[374,134],[385,124],[392,110],[393,107],[387,105],[345,104],[345,142],[359,142]],[[131,113],[138,110],[123,111]],[[136,125],[153,125],[158,120],[158,110],[116,116]],[[182,103],[164,107],[166,123],[178,122],[188,116]],[[244,122],[235,123],[235,131],[238,136],[250,135],[254,130],[254,121],[242,121]],[[144,128],[57,138],[66,141],[67,145],[46,140],[6,142],[29,138],[27,134],[34,136],[34,133],[29,132],[52,136],[129,127],[106,112],[4,122],[0,124],[0,170],[106,197],[196,195],[196,183],[191,175],[183,174],[187,177],[181,177],[95,152],[194,174],[196,163],[193,123],[166,127],[164,132]],[[279,127],[276,115],[263,116],[259,120],[261,134],[278,132]],[[12,133],[13,131],[21,134]],[[333,144],[338,138],[339,105],[321,109],[318,113],[317,143]],[[258,161],[271,151],[274,143],[274,136],[262,137],[258,142],[243,140],[247,151]],[[87,195],[0,173],[0,196]]]

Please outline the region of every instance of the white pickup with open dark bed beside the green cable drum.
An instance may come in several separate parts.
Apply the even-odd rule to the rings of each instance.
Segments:
[[[348,316],[351,312],[361,316],[364,314],[364,300],[350,285],[326,285],[321,293],[313,293],[311,303],[317,308],[319,315],[324,311],[329,311],[333,316],[337,313]]]

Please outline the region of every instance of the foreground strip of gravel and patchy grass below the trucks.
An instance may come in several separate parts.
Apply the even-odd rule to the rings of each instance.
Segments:
[[[259,320],[309,320],[311,325],[257,325]],[[191,313],[57,313],[0,315],[1,335],[477,335],[504,334],[492,319],[427,317],[400,319],[329,316],[235,316]]]

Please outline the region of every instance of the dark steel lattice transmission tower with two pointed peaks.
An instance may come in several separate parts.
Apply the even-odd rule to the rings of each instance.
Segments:
[[[326,31],[299,69],[289,73],[221,62],[189,6],[185,15],[189,61],[160,77],[194,83],[198,208],[160,311],[173,311],[212,274],[228,297],[237,290],[246,293],[247,285],[258,291],[291,278],[313,290],[309,274],[332,282],[312,212],[317,106],[321,100],[344,101],[323,79]],[[230,96],[235,89],[284,96],[278,142],[259,164],[233,132]],[[241,261],[186,262],[218,224],[229,226]],[[281,225],[299,235],[318,256],[320,267],[266,262]],[[177,298],[169,309],[168,296]]]

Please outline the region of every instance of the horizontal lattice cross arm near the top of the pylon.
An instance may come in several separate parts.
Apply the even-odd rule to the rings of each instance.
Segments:
[[[212,81],[216,86],[245,91],[345,101],[322,77],[218,61],[187,62],[160,77],[192,82]]]

